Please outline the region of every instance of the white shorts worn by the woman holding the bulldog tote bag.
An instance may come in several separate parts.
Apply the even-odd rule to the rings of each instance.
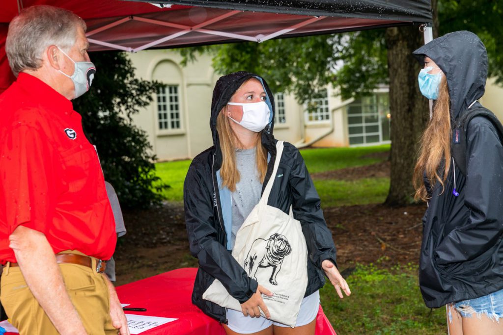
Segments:
[[[316,291],[313,294],[302,299],[299,315],[297,316],[297,323],[295,323],[295,326],[300,327],[310,323],[312,320],[316,318],[316,315],[318,315],[318,309],[319,309],[319,291]],[[238,312],[237,310],[228,308],[227,308],[227,320],[229,321],[227,326],[232,331],[241,334],[250,334],[257,331],[261,331],[270,327],[272,324],[280,327],[289,327],[286,324],[274,322],[262,316],[261,317],[244,316],[242,312]]]

